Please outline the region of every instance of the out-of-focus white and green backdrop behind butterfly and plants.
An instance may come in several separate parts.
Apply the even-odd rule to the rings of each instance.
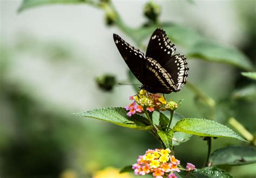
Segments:
[[[146,21],[146,2],[113,4],[124,22],[137,27]],[[71,115],[130,104],[129,96],[136,94],[131,86],[106,92],[98,88],[95,78],[108,73],[119,82],[129,82],[112,34],[135,45],[132,39],[107,26],[104,12],[90,5],[45,5],[18,13],[21,3],[1,1],[0,176],[91,177],[108,166],[131,165],[146,149],[160,147],[145,131]],[[160,20],[183,24],[220,44],[235,46],[255,65],[255,1],[157,3]],[[177,45],[177,52],[183,53],[183,47]],[[228,99],[235,88],[252,82],[240,75],[243,70],[229,65],[197,59],[188,59],[188,65],[188,81],[217,100]],[[184,99],[178,112],[185,117],[203,117],[186,86],[168,97]],[[233,116],[255,134],[255,100],[240,99],[233,108]],[[218,122],[225,124],[223,118]],[[236,144],[241,143],[217,139],[213,149]],[[199,137],[176,147],[181,162],[197,167],[203,166],[206,153],[206,142]],[[254,168],[255,164],[227,169],[236,177],[251,170],[246,177],[253,177]]]

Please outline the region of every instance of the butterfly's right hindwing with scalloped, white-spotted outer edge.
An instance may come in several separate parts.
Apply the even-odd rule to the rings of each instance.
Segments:
[[[186,57],[182,54],[176,54],[171,57],[163,66],[173,80],[173,91],[179,91],[187,81],[187,61]]]

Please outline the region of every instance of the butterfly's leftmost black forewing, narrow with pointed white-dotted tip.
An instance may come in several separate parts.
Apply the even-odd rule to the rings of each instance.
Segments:
[[[131,46],[129,43],[119,37],[119,35],[113,34],[113,38],[118,51],[122,55],[131,72],[141,83],[144,83],[143,66],[146,60],[145,54],[136,47]]]

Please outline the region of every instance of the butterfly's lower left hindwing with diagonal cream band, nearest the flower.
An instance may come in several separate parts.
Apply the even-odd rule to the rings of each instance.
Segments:
[[[176,91],[172,76],[156,60],[146,58],[143,71],[146,75],[143,88],[147,91],[152,93],[160,92],[163,94]]]

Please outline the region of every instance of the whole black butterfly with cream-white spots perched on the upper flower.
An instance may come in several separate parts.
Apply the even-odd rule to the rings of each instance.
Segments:
[[[143,84],[142,89],[151,93],[170,94],[179,91],[186,83],[186,57],[182,54],[173,55],[176,47],[164,30],[154,31],[146,55],[119,35],[113,34],[113,38],[127,66]]]

